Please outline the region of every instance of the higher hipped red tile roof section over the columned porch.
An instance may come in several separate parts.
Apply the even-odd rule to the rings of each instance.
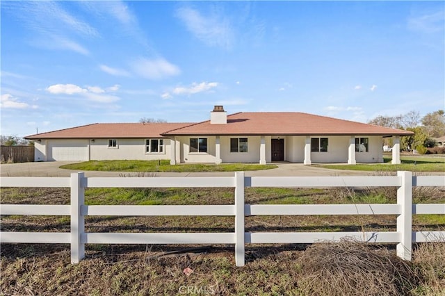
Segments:
[[[227,116],[227,124],[210,121],[184,126],[163,135],[412,135],[332,117],[299,112],[245,112]]]

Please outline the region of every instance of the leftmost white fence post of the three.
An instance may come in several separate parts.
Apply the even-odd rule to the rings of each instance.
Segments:
[[[81,213],[85,188],[81,185],[82,179],[83,172],[71,174],[71,263],[79,263],[85,257],[85,243],[82,242],[85,218]]]

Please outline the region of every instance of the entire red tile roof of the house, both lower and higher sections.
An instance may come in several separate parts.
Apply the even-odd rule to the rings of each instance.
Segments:
[[[299,112],[245,112],[227,116],[227,124],[96,123],[26,136],[26,139],[154,138],[169,135],[412,135],[332,117]]]

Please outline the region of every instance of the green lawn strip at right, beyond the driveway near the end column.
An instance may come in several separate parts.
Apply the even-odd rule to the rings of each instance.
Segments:
[[[384,157],[385,163],[360,163],[357,165],[320,165],[333,170],[357,170],[375,172],[445,172],[445,157],[401,156],[400,165],[392,165],[390,157]]]

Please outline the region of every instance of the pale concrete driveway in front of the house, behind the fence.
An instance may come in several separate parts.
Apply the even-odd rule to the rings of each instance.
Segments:
[[[70,176],[76,170],[60,169],[60,165],[73,161],[51,161],[42,163],[8,163],[0,165],[1,176]],[[278,168],[245,172],[246,176],[366,176],[373,172],[328,170],[301,163],[276,163]],[[136,176],[135,172],[85,171],[86,176]],[[233,176],[233,172],[157,172],[156,176]]]

